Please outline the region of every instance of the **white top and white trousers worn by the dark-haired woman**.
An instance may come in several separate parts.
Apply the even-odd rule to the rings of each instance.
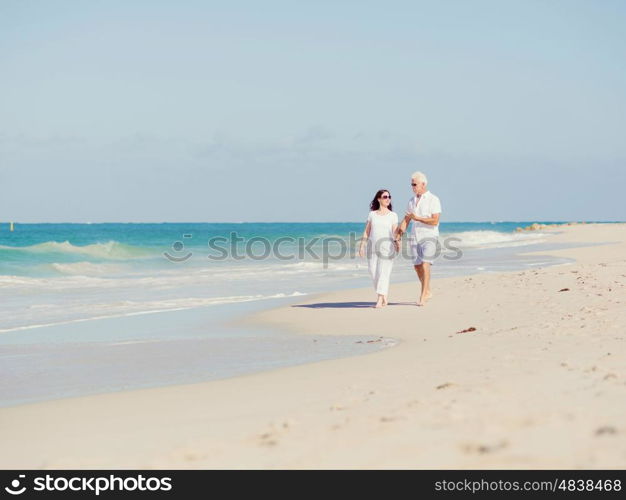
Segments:
[[[376,211],[369,213],[370,223],[367,264],[374,281],[374,288],[379,295],[389,293],[389,278],[393,268],[396,250],[393,245],[393,226],[398,224],[398,215],[388,212],[381,215]]]

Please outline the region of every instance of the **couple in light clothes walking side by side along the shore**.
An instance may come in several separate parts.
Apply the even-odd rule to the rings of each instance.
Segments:
[[[378,294],[378,301],[374,306],[376,308],[387,305],[393,258],[400,251],[402,234],[411,221],[413,221],[411,235],[413,266],[422,284],[422,292],[417,305],[423,306],[431,297],[430,266],[437,254],[441,202],[437,196],[428,191],[427,184],[428,180],[422,172],[415,172],[411,176],[411,187],[415,196],[409,200],[406,214],[400,225],[398,225],[397,214],[392,212],[389,191],[379,190],[370,204],[371,211],[361,238],[359,256],[365,255],[365,245],[369,244],[368,266]]]

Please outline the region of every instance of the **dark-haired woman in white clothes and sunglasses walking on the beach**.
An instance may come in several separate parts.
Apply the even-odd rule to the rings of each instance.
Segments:
[[[391,211],[391,195],[386,189],[381,189],[376,193],[370,203],[370,210],[361,238],[359,256],[365,255],[365,245],[368,245],[367,263],[378,294],[374,307],[379,308],[387,305],[393,258],[395,252],[399,250],[398,242],[394,238],[398,227],[398,216]]]

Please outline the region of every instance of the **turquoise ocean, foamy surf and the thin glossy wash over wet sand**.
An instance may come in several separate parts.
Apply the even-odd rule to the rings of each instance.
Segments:
[[[551,233],[516,231],[532,222],[442,223],[433,277],[565,262],[520,255],[554,247]],[[227,326],[316,292],[371,286],[367,261],[355,254],[363,228],[16,223],[10,231],[1,223],[0,406],[211,380],[393,345]],[[393,283],[410,280],[404,245],[391,300]]]

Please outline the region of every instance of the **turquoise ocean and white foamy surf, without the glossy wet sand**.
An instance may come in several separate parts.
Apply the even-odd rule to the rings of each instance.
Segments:
[[[515,231],[529,224],[441,224],[441,240],[463,255],[442,255],[434,276],[519,265],[513,250],[548,238]],[[354,255],[362,231],[362,223],[103,223],[10,232],[3,223],[0,332],[367,286],[367,261]],[[398,258],[393,279],[413,277]]]

